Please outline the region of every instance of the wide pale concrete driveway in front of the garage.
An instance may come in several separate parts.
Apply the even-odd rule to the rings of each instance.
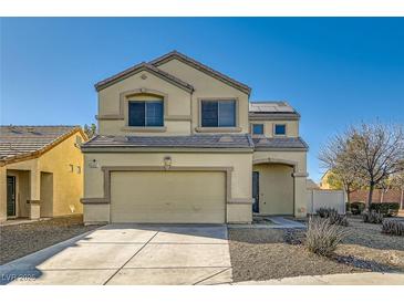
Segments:
[[[229,282],[226,226],[110,224],[0,267],[1,284]]]

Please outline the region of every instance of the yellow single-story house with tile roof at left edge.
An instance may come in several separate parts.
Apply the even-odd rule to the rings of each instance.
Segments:
[[[0,126],[0,220],[81,213],[80,126]]]

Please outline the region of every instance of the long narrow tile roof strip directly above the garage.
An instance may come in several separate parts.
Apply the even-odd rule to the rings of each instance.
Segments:
[[[190,136],[96,136],[82,149],[97,147],[169,147],[169,148],[252,148],[250,135],[190,135]]]

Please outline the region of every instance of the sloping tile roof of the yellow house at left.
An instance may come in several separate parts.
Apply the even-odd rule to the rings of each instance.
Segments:
[[[0,126],[0,160],[39,152],[80,126]]]

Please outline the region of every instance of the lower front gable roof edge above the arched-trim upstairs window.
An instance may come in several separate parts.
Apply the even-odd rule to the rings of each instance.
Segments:
[[[185,81],[183,81],[183,80],[180,80],[180,79],[178,79],[178,77],[176,77],[176,76],[174,76],[174,75],[172,75],[172,74],[169,74],[169,73],[167,73],[167,72],[165,72],[165,71],[163,71],[163,70],[160,70],[160,69],[158,69],[154,65],[152,65],[152,64],[148,64],[146,62],[142,62],[139,64],[136,64],[136,65],[134,65],[134,66],[132,66],[132,67],[130,67],[130,69],[127,69],[127,70],[125,70],[121,73],[117,73],[113,76],[110,76],[110,77],[103,80],[103,81],[100,81],[99,83],[96,83],[94,85],[95,90],[101,91],[101,90],[116,83],[117,81],[120,81],[122,79],[128,77],[128,76],[131,76],[133,74],[136,74],[138,72],[142,72],[142,71],[152,72],[153,74],[158,75],[158,76],[160,76],[165,80],[168,80],[169,82],[172,82],[172,83],[174,83],[174,84],[176,84],[176,85],[178,85],[178,86],[180,86],[180,87],[183,87],[183,88],[185,88],[189,92],[194,91],[194,86],[190,85],[189,83],[186,83]]]

